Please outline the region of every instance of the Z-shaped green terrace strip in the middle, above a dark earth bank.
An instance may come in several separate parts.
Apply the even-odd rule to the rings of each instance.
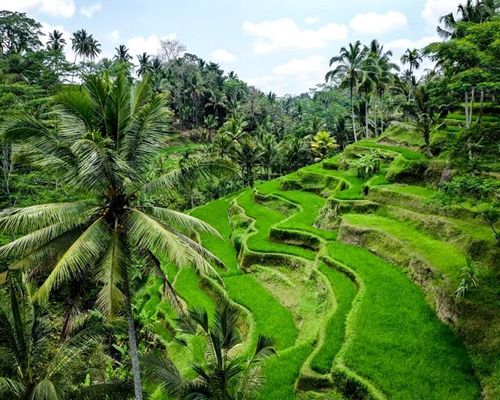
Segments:
[[[237,198],[238,204],[243,207],[245,214],[255,220],[256,234],[248,238],[247,245],[250,250],[267,253],[285,253],[313,260],[315,253],[297,246],[271,242],[269,232],[271,226],[280,223],[285,217],[275,210],[256,203],[252,192],[246,191]]]

